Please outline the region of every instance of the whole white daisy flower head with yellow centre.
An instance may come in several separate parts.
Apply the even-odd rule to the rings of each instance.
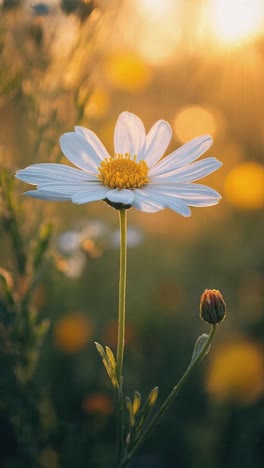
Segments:
[[[117,209],[134,206],[154,213],[170,208],[190,216],[190,206],[211,206],[220,200],[218,192],[193,182],[222,163],[212,157],[196,161],[212,145],[209,135],[194,138],[163,158],[171,137],[168,122],[159,120],[146,134],[139,117],[122,112],[114,131],[114,155],[94,132],[75,127],[75,132],[62,135],[60,146],[76,168],[34,164],[18,171],[16,177],[37,186],[25,192],[33,198],[71,200],[79,205],[104,200]]]

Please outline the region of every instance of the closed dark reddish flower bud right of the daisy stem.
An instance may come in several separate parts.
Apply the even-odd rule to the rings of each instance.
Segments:
[[[207,323],[215,325],[224,320],[226,304],[217,289],[206,289],[201,296],[200,317]]]

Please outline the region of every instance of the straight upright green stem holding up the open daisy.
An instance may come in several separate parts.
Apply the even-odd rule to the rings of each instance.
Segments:
[[[119,308],[118,308],[118,340],[116,375],[119,387],[116,398],[116,430],[117,430],[117,463],[122,456],[123,447],[123,360],[125,347],[126,320],[126,267],[127,267],[127,213],[119,211],[120,224],[120,271],[119,271]]]

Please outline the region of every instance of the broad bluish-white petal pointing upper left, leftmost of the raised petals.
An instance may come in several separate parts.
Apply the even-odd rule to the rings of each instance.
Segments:
[[[98,173],[101,158],[93,146],[77,133],[64,133],[60,137],[60,147],[66,158],[75,166],[92,174]]]

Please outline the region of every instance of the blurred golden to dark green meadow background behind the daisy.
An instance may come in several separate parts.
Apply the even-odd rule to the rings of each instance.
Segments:
[[[219,289],[228,305],[209,356],[134,468],[263,467],[263,80],[262,0],[0,0],[1,288],[11,284],[18,301],[28,269],[11,242],[6,174],[65,163],[62,133],[91,128],[111,152],[117,116],[128,110],[146,129],[170,122],[170,149],[212,134],[208,155],[224,163],[206,179],[219,205],[187,219],[129,211],[126,394],[159,384],[162,400],[207,332],[203,290]],[[113,400],[94,341],[116,345],[117,212],[22,199],[25,187],[13,187],[25,257],[39,226],[54,225],[29,305],[50,327],[20,437],[12,411],[27,406],[15,395],[5,323],[13,306],[0,289],[0,466],[108,467]]]

